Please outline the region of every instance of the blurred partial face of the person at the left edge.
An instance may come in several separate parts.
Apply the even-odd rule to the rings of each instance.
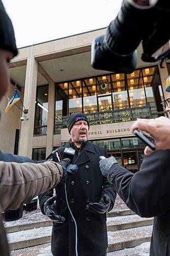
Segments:
[[[10,51],[0,49],[0,100],[6,94],[9,87],[8,62],[13,54]]]

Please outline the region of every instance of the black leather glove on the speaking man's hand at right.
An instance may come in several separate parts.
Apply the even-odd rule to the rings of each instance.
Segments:
[[[111,210],[111,208],[111,200],[106,194],[102,195],[99,203],[89,203],[86,205],[86,210],[89,210],[94,214],[105,214],[105,212]]]

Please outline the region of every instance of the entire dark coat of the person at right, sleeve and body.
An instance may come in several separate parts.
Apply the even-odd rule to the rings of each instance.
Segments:
[[[170,150],[145,157],[132,174],[119,164],[109,169],[108,181],[120,198],[141,217],[155,217],[151,256],[170,255]]]

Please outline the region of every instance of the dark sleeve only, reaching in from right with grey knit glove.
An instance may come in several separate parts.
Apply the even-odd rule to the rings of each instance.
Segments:
[[[139,216],[163,215],[170,209],[170,150],[156,151],[145,157],[135,174],[117,163],[113,164],[108,181]]]

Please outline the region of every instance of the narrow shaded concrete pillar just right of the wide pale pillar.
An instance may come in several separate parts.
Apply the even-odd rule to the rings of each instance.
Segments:
[[[49,82],[48,88],[48,119],[46,134],[46,157],[53,151],[54,135],[54,115],[55,115],[55,83]]]

